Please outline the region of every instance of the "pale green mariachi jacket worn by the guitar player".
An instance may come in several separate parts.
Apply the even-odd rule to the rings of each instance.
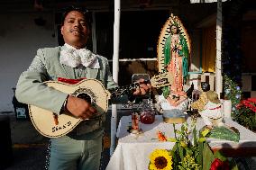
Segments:
[[[57,80],[58,77],[96,78],[108,89],[116,87],[106,58],[97,56],[100,68],[87,67],[81,73],[78,68],[60,64],[59,51],[61,48],[64,47],[38,49],[31,67],[24,71],[18,80],[15,95],[19,102],[59,113],[68,94],[43,84],[44,81]]]

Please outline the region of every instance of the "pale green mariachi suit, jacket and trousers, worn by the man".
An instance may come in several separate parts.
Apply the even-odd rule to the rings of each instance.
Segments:
[[[52,89],[43,82],[58,77],[78,79],[96,78],[107,88],[116,87],[106,58],[98,56],[99,68],[68,67],[60,64],[59,52],[65,46],[38,49],[29,69],[22,73],[16,86],[16,97],[21,103],[36,105],[59,113],[68,94]],[[82,121],[67,136],[51,140],[50,169],[96,170],[100,164],[105,115],[97,121]]]

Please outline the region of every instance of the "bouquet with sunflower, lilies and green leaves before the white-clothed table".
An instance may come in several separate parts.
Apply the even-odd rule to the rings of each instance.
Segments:
[[[175,138],[165,138],[169,142],[175,142],[175,146],[171,150],[155,149],[150,156],[149,170],[238,169],[219,151],[213,153],[206,142],[206,135],[210,130],[197,131],[196,122],[194,120],[189,125],[185,122],[181,125],[180,130],[176,130],[175,124],[173,124]],[[160,131],[158,131],[159,134]],[[159,137],[160,139],[162,137]],[[165,142],[165,140],[160,141]]]

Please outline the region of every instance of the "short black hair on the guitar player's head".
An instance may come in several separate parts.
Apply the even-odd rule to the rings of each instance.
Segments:
[[[77,11],[79,13],[82,13],[86,19],[87,26],[88,27],[91,26],[91,13],[87,10],[87,8],[81,7],[81,6],[74,6],[74,5],[71,5],[63,10],[62,17],[61,17],[61,25],[64,24],[66,16],[71,11]]]

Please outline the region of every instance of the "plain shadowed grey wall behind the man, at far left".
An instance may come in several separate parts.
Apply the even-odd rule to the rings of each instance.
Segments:
[[[37,49],[58,45],[54,15],[41,13],[46,20],[38,26],[39,13],[0,14],[0,112],[14,112],[13,90],[20,74],[30,66]]]

